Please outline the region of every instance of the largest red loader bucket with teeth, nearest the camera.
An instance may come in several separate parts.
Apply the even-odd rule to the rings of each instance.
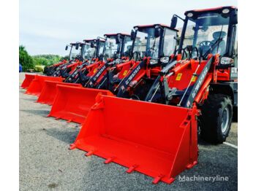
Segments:
[[[170,184],[197,164],[197,109],[100,95],[70,149]]]

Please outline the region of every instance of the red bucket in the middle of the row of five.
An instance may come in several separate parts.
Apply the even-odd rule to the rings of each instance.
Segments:
[[[75,87],[82,87],[80,84],[66,83],[66,82],[53,82],[45,80],[45,85],[42,87],[42,92],[40,93],[37,102],[40,104],[53,105],[54,98],[57,94],[56,85],[68,85]]]

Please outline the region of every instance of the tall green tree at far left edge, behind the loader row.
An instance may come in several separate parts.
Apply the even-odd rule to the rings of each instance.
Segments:
[[[28,71],[29,69],[34,69],[33,58],[26,51],[23,45],[19,46],[19,62],[22,66],[23,71]]]

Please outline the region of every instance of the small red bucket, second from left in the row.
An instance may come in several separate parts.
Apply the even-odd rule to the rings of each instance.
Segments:
[[[39,96],[42,91],[42,87],[45,85],[45,80],[50,80],[50,81],[54,81],[54,82],[62,82],[63,78],[35,76],[31,82],[31,84],[29,85],[28,89],[26,90],[26,94]]]

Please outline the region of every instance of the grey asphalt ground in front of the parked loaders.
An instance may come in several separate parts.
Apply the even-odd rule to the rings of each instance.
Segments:
[[[20,73],[20,84],[23,79],[24,73]],[[20,190],[237,190],[236,122],[228,145],[199,142],[198,164],[180,175],[186,181],[177,176],[172,184],[152,184],[149,176],[127,174],[121,165],[105,165],[101,157],[69,150],[80,126],[45,117],[50,106],[34,103],[37,96],[24,92],[20,89]]]

